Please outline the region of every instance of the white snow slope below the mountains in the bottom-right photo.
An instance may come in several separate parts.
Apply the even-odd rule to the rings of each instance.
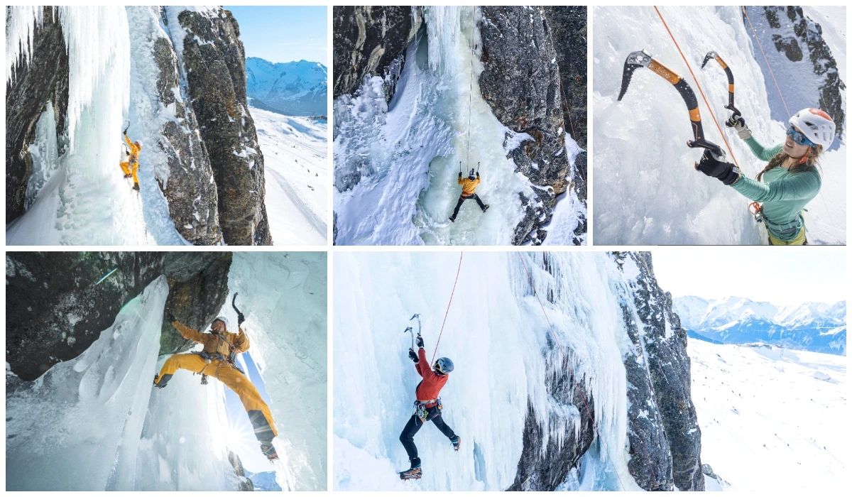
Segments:
[[[845,357],[699,340],[689,342],[689,356],[701,456],[723,489],[842,494],[849,488]]]

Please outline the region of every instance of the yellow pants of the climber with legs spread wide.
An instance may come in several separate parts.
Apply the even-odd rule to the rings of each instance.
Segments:
[[[275,428],[275,422],[272,419],[269,406],[266,402],[263,402],[261,394],[257,391],[255,385],[251,384],[249,378],[245,374],[240,373],[236,367],[219,360],[210,361],[210,364],[208,364],[198,354],[175,354],[165,361],[163,369],[160,370],[157,377],[158,383],[166,375],[170,377],[175,374],[178,369],[187,369],[193,373],[207,374],[221,381],[227,388],[233,390],[233,393],[237,394],[239,400],[243,402],[245,411],[249,413],[251,424],[255,427],[255,435],[259,439],[262,439],[262,431],[266,430],[272,431],[273,436],[269,436],[269,440],[274,436],[278,436],[278,429]],[[261,413],[262,419],[256,413]]]

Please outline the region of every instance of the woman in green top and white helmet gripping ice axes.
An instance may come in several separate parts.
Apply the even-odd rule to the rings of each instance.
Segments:
[[[752,180],[733,164],[715,159],[705,151],[695,168],[714,176],[754,200],[763,210],[769,245],[806,245],[802,210],[820,191],[820,155],[834,142],[835,124],[825,111],[807,108],[790,118],[786,141],[763,147],[751,136],[746,120],[732,116],[725,123],[737,130],[758,159],[769,164]],[[762,204],[762,206],[761,206]]]

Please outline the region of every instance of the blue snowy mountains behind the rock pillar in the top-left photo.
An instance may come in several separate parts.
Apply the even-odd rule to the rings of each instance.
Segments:
[[[325,116],[326,81],[327,69],[319,62],[245,59],[245,91],[254,107],[290,116]]]

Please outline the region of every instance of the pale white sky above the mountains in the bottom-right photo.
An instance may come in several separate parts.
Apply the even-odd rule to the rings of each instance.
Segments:
[[[682,246],[651,253],[659,286],[674,297],[744,297],[781,305],[846,298],[842,247],[790,248]]]

